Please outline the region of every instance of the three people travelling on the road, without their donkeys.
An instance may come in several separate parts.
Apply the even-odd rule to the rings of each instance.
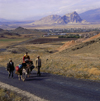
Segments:
[[[23,56],[23,63],[28,63],[30,62],[30,56],[28,55],[28,52],[25,53],[25,55]],[[41,68],[41,59],[40,56],[37,56],[36,59],[36,68],[38,69],[37,71],[37,75],[41,76],[40,73],[40,68]],[[8,71],[8,78],[12,77],[13,78],[13,72],[15,70],[14,67],[14,62],[12,61],[12,59],[9,59],[9,62],[7,63],[7,71]]]

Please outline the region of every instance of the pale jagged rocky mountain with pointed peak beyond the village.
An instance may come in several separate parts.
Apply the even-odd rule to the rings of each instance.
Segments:
[[[76,24],[76,23],[86,23],[85,20],[82,20],[77,12],[68,13],[64,16],[59,15],[50,15],[44,17],[40,20],[33,22],[33,25],[64,25],[64,24]]]

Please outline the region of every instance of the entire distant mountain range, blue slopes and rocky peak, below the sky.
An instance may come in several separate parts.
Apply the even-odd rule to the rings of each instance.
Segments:
[[[78,14],[76,11],[72,13],[60,15],[49,15],[41,18],[40,20],[28,20],[28,21],[11,21],[0,18],[0,26],[9,25],[66,25],[66,24],[89,24],[89,23],[100,23],[100,8],[86,11]]]

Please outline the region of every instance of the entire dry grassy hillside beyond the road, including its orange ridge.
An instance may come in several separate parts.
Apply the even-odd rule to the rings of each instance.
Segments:
[[[37,42],[39,41],[37,40]],[[58,52],[54,51],[57,49]],[[24,43],[8,47],[5,52],[0,53],[1,65],[6,66],[10,54],[17,66],[22,62],[25,51],[29,51],[33,63],[35,63],[37,55],[41,56],[42,72],[79,79],[100,80],[100,34],[84,41],[81,40],[80,43],[63,40],[63,42]]]

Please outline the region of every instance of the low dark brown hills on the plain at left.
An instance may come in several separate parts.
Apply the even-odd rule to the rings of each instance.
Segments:
[[[29,38],[42,36],[45,32],[37,29],[26,29],[23,27],[18,27],[14,30],[3,30],[0,28],[0,38]]]

